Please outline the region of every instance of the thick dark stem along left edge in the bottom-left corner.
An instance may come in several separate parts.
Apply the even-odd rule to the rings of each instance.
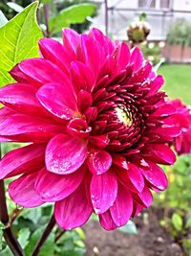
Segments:
[[[1,158],[1,144],[0,144],[0,158]],[[21,245],[17,242],[14,234],[11,230],[11,223],[8,214],[8,207],[6,203],[6,196],[5,196],[5,188],[4,188],[4,181],[0,180],[0,221],[5,225],[5,229],[3,231],[3,235],[5,238],[6,243],[11,248],[11,252],[14,256],[24,256],[23,249]]]

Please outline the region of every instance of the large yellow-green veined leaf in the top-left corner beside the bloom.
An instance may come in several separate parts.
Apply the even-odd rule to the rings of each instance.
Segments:
[[[37,41],[42,33],[36,23],[34,2],[0,28],[0,87],[13,81],[11,68],[25,58],[38,56]]]

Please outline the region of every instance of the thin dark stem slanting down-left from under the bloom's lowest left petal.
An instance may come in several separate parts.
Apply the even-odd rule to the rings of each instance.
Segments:
[[[53,230],[53,226],[55,224],[54,216],[52,216],[52,219],[49,221],[49,224],[47,225],[44,233],[42,234],[42,237],[40,238],[39,242],[36,244],[36,246],[33,249],[32,256],[37,256],[41,246],[45,243],[49,235],[51,234],[51,231]]]

